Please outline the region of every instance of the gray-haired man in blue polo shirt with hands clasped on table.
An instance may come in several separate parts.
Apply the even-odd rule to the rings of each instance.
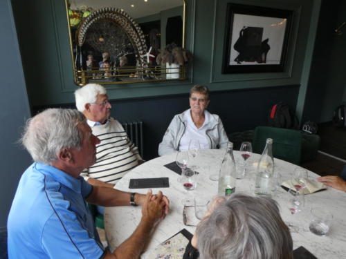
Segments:
[[[141,195],[85,182],[80,173],[95,162],[100,140],[78,111],[39,113],[26,125],[22,141],[35,162],[22,175],[8,215],[9,257],[139,258],[154,225],[168,213],[167,198],[161,192]],[[142,219],[111,253],[102,247],[86,202],[139,204]]]

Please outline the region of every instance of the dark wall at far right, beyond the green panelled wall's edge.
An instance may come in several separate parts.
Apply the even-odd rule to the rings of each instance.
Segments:
[[[346,102],[346,28],[334,30],[346,21],[346,1],[323,0],[311,63],[303,122],[329,122],[336,106]]]

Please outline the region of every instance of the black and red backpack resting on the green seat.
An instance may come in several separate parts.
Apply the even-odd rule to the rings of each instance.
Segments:
[[[298,124],[298,119],[289,104],[279,102],[269,110],[268,126],[298,129]]]

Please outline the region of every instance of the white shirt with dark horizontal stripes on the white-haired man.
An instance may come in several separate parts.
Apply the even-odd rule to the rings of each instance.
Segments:
[[[89,122],[88,124],[91,125]],[[94,178],[116,184],[122,176],[138,165],[138,160],[142,160],[138,148],[129,140],[121,124],[112,117],[106,124],[94,124],[91,130],[101,142],[96,146],[95,164],[84,169],[81,175],[86,181]]]

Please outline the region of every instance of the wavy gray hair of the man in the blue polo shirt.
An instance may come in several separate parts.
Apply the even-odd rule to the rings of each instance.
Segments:
[[[73,109],[49,108],[28,119],[21,137],[35,162],[51,164],[63,148],[80,148],[82,131],[78,124],[86,122],[82,113]]]

